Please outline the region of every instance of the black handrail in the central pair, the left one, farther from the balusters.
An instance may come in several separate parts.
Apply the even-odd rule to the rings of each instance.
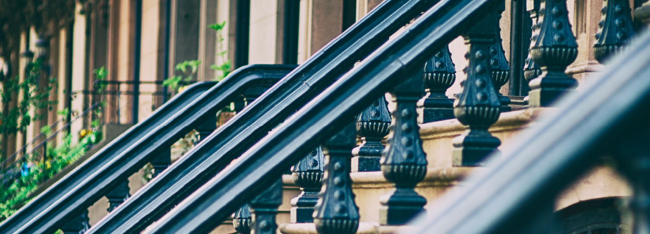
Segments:
[[[384,1],[86,233],[139,233],[435,2]]]

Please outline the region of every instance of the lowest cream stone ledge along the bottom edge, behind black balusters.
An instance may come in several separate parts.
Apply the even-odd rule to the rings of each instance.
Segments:
[[[415,226],[381,226],[376,222],[360,222],[357,234],[412,233]],[[313,223],[280,224],[279,231],[284,234],[318,234]]]

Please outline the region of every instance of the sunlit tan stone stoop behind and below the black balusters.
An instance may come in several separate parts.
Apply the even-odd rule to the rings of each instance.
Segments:
[[[554,108],[530,108],[525,110],[501,113],[499,121],[493,124],[489,131],[502,141],[500,150],[514,143],[517,134],[525,131],[528,126],[535,124],[543,113],[551,113]],[[420,124],[422,146],[428,160],[428,170],[424,180],[417,185],[415,191],[427,199],[425,209],[430,209],[432,201],[443,196],[471,172],[485,169],[484,167],[452,167],[452,139],[462,134],[465,126],[456,119]],[[497,159],[499,160],[499,159]],[[289,177],[290,178],[290,177]],[[359,234],[395,233],[399,228],[408,226],[381,226],[379,224],[379,198],[394,190],[393,184],[383,178],[382,172],[352,172],[352,189],[356,195],[355,202],[359,207]],[[290,181],[285,181],[289,183]],[[285,193],[287,194],[287,193]],[[298,193],[296,193],[297,195]],[[629,196],[631,189],[614,169],[606,163],[599,165],[573,185],[558,194],[556,210],[584,200],[606,197]],[[292,198],[292,197],[291,197]],[[285,202],[291,198],[283,198]],[[444,202],[444,201],[438,201]],[[287,204],[283,203],[281,207]],[[289,207],[291,205],[289,204]],[[290,224],[281,222],[278,218],[279,233],[284,234],[317,234],[313,223]]]

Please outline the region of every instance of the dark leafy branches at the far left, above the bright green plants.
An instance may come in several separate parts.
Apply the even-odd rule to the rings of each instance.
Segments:
[[[8,78],[0,89],[0,103],[3,107],[11,106],[13,97],[20,95],[18,105],[7,108],[0,115],[0,134],[3,139],[10,134],[17,132],[25,133],[27,127],[34,121],[42,119],[45,111],[31,110],[49,110],[57,104],[55,100],[49,100],[49,95],[57,85],[56,78],[45,78],[45,84],[39,84],[41,80],[42,62],[36,60],[27,65],[27,74],[24,80],[18,76]],[[6,152],[0,152],[0,156]],[[0,157],[3,158],[3,157]]]

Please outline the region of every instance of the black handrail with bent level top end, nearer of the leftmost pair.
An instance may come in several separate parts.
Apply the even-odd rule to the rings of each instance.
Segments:
[[[49,207],[33,214],[34,216],[14,233],[56,231],[71,215],[90,207],[116,182],[127,180],[131,174],[158,156],[162,148],[170,147],[211,115],[216,115],[217,111],[229,105],[246,89],[260,85],[270,86],[295,67],[296,65],[246,65],[233,71],[156,128],[144,132],[140,139],[133,141],[131,146],[120,152],[112,161],[85,176],[83,182],[68,187],[65,191],[59,191],[64,194],[58,200],[48,200]]]

